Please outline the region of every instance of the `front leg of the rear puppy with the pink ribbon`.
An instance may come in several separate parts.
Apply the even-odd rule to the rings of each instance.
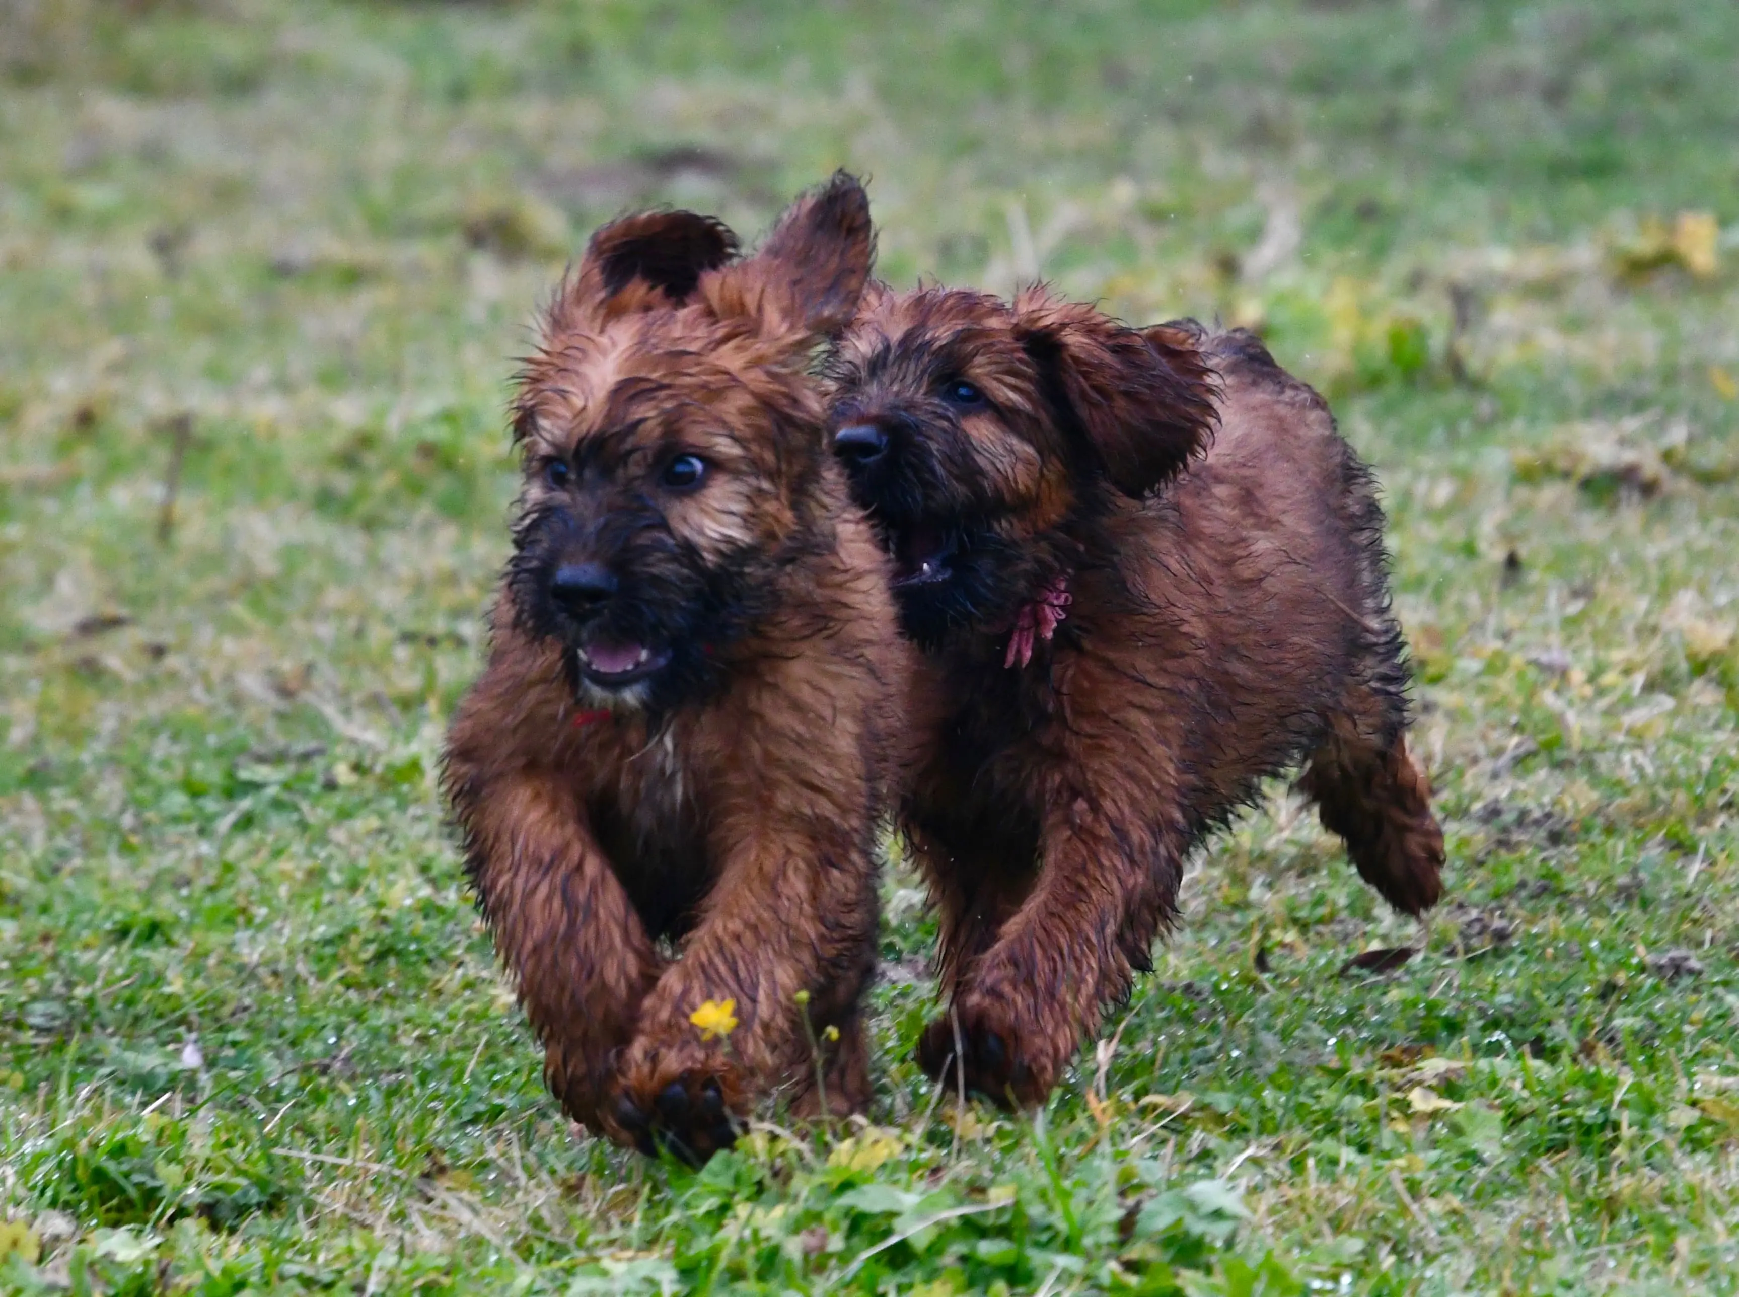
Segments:
[[[1160,808],[1163,810],[1163,808]],[[1043,1101],[1106,1003],[1144,968],[1183,876],[1181,821],[1064,789],[1047,812],[1038,881],[967,970],[920,1061],[998,1102]]]

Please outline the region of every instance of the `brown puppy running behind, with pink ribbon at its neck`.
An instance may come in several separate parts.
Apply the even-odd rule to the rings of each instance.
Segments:
[[[1438,899],[1374,483],[1261,343],[873,290],[831,369],[944,708],[903,808],[953,998],[932,1074],[1042,1099],[1149,967],[1191,847],[1297,762],[1389,904]]]

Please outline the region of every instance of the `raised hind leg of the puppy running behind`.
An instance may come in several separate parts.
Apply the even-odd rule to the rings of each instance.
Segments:
[[[1414,916],[1436,904],[1443,829],[1431,814],[1431,784],[1407,751],[1398,694],[1355,685],[1348,708],[1329,718],[1299,791],[1384,901]]]

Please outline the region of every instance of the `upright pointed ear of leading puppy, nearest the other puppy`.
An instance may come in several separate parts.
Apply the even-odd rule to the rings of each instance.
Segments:
[[[720,315],[760,315],[777,332],[836,334],[852,322],[870,268],[870,195],[843,170],[791,203],[762,249],[708,290]]]

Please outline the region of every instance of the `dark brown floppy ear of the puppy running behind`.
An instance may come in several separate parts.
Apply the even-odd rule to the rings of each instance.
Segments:
[[[1016,299],[1014,318],[1047,398],[1125,496],[1162,487],[1207,447],[1219,382],[1189,330],[1137,332],[1040,289]]]

